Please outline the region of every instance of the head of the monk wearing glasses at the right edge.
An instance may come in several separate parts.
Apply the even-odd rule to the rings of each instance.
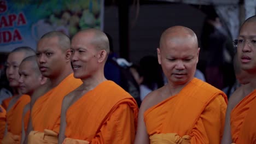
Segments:
[[[237,55],[241,68],[256,74],[256,15],[249,17],[240,28]]]

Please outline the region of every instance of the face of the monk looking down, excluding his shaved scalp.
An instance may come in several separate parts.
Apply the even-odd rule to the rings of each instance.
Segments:
[[[158,49],[158,62],[169,83],[183,85],[193,79],[199,50],[191,43],[175,43],[170,40]]]

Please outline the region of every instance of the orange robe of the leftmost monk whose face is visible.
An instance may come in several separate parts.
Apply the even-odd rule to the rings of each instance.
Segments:
[[[8,133],[5,134],[2,143],[12,143],[14,141],[19,142],[21,138],[22,130],[22,113],[24,107],[30,103],[29,95],[21,95],[16,103],[7,111],[6,122],[8,127]],[[28,118],[25,120],[28,122]],[[25,125],[25,130],[27,124]]]

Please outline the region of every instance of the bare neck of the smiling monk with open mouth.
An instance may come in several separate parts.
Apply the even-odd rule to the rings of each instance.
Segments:
[[[86,79],[82,79],[83,84],[80,86],[80,88],[84,89],[85,91],[90,91],[100,85],[103,81],[107,81],[107,79],[104,77],[104,74],[101,75],[94,75],[87,77]]]

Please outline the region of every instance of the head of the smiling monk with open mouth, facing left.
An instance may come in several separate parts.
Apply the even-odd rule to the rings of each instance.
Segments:
[[[71,52],[74,77],[86,79],[103,73],[109,53],[107,35],[94,28],[80,31],[71,40]]]

